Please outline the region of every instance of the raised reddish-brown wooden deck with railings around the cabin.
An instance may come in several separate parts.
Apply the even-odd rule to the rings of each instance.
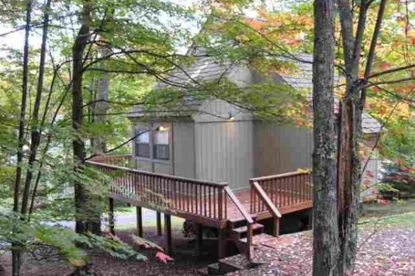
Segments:
[[[150,208],[165,213],[167,228],[170,215],[194,221],[201,227],[218,228],[221,250],[225,247],[225,232],[236,227],[235,221],[246,221],[249,255],[255,219],[273,218],[277,236],[282,215],[311,208],[310,172],[257,177],[249,179],[248,188],[232,191],[228,183],[135,170],[127,168],[130,163],[130,155],[101,156],[86,161],[96,177],[108,185],[110,209],[113,199],[137,206],[138,233],[142,233],[141,208]]]

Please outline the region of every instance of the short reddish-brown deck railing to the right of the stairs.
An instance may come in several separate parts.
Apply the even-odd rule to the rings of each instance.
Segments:
[[[311,172],[288,172],[250,179],[250,213],[268,210],[266,202],[255,191],[254,183],[266,193],[273,204],[281,209],[311,201]]]

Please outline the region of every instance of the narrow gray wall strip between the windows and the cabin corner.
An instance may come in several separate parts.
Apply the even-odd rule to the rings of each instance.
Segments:
[[[196,177],[194,122],[176,121],[173,125],[174,175]]]

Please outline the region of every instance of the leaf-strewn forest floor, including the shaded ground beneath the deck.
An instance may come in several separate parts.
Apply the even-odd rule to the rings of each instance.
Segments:
[[[122,228],[122,227],[121,227]],[[176,254],[174,262],[163,264],[154,254],[148,254],[147,262],[120,261],[107,255],[93,255],[92,270],[98,276],[127,275],[198,275],[197,269],[215,262],[215,241],[204,242],[205,256],[196,257],[194,244],[183,237],[181,224],[174,224],[173,241]],[[117,235],[128,242],[133,230],[118,230]],[[163,246],[163,237],[156,235],[154,225],[147,224],[145,237]],[[359,252],[356,260],[356,276],[404,276],[415,271],[415,200],[404,204],[365,204],[360,219]],[[312,239],[311,231],[282,235],[274,244],[266,245],[268,253],[264,259],[270,264],[243,270],[235,275],[311,275]],[[212,254],[213,253],[213,254]],[[261,256],[259,256],[261,257]],[[0,257],[0,275],[10,275],[10,255]],[[35,262],[26,257],[22,276],[64,276],[72,268],[60,262]]]

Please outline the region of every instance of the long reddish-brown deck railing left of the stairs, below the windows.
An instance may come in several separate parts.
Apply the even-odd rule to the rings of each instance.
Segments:
[[[219,221],[227,218],[225,187],[228,184],[134,170],[95,161],[86,163],[111,177],[109,192],[124,199],[162,211],[165,209]]]

